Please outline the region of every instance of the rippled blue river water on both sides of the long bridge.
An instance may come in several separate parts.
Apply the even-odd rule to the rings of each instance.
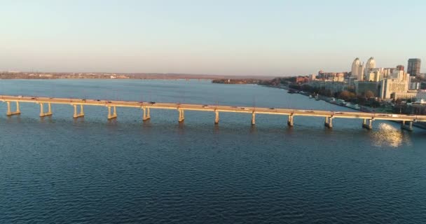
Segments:
[[[348,110],[256,85],[0,80],[0,94]],[[0,104],[0,223],[426,223],[426,131],[397,123]]]

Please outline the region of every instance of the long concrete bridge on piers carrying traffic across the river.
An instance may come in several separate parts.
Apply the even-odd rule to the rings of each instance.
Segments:
[[[364,112],[336,112],[336,111],[317,111],[303,109],[278,109],[262,108],[252,106],[221,106],[207,104],[174,104],[159,102],[134,102],[118,100],[100,100],[100,99],[73,99],[73,98],[53,98],[53,97],[28,97],[28,96],[7,96],[0,95],[0,101],[7,104],[7,116],[14,116],[21,113],[20,103],[34,103],[40,105],[40,116],[52,116],[52,104],[69,104],[74,107],[74,118],[83,117],[83,106],[105,106],[108,111],[108,119],[117,118],[117,107],[132,107],[141,109],[142,120],[151,119],[151,109],[168,109],[179,112],[179,123],[185,120],[185,111],[207,111],[215,113],[214,123],[219,124],[219,113],[250,113],[252,114],[252,125],[256,123],[256,114],[272,114],[277,116],[288,116],[287,125],[294,126],[295,116],[322,117],[326,127],[333,127],[334,118],[352,118],[361,119],[362,127],[371,130],[373,120],[392,120],[401,122],[401,128],[413,130],[413,123],[426,122],[426,116],[411,116],[404,114],[389,113],[364,113]],[[11,104],[15,104],[15,111],[12,111]],[[45,108],[47,106],[47,109]],[[47,111],[46,111],[47,110]]]

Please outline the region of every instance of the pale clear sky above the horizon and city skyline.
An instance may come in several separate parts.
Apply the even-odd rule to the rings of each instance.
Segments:
[[[426,67],[426,1],[0,0],[0,71],[290,76]]]

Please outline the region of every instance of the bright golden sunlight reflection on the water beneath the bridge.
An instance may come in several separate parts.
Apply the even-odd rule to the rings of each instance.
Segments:
[[[387,123],[380,123],[378,130],[371,133],[374,146],[392,146],[398,147],[404,144],[411,144],[409,135],[404,131]]]

